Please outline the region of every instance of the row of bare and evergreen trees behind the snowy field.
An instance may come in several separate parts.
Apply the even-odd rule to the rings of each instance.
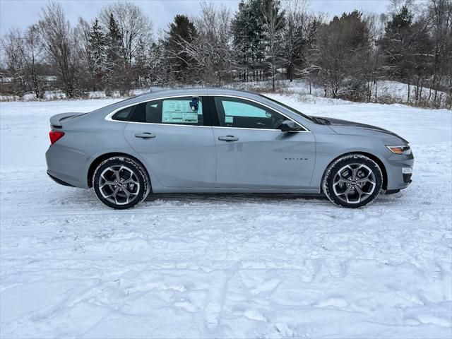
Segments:
[[[150,18],[131,2],[109,3],[75,25],[52,2],[37,23],[1,38],[0,80],[8,81],[0,89],[78,97],[268,81],[276,90],[278,80],[303,78],[325,96],[371,101],[379,81],[392,80],[408,84],[409,102],[451,107],[452,0],[393,0],[380,15],[332,19],[307,7],[306,0],[241,0],[232,13],[203,2],[198,15],[179,14],[153,34]]]

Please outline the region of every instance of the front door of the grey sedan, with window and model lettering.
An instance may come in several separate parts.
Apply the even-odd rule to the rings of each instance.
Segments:
[[[251,100],[215,97],[215,107],[219,188],[309,187],[315,160],[310,131],[280,131],[287,117]]]

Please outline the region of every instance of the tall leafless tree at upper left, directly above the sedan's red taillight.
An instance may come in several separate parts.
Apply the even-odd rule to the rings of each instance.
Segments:
[[[57,65],[68,97],[76,94],[76,72],[78,55],[76,42],[69,20],[66,20],[61,4],[50,3],[42,8],[38,23],[43,38],[45,52]]]

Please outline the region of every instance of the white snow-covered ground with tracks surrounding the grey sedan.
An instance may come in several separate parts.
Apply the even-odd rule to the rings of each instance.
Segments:
[[[414,182],[359,210],[167,194],[115,211],[44,162],[52,114],[114,100],[1,102],[0,337],[451,338],[451,111],[273,97],[400,133]]]

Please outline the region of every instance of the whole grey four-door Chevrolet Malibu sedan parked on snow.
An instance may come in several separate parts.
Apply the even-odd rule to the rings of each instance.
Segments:
[[[148,194],[323,192],[359,208],[411,182],[408,141],[238,90],[166,90],[50,118],[47,173],[110,208]]]

